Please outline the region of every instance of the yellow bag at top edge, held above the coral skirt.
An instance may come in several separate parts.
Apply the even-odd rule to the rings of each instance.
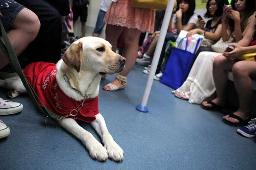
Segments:
[[[131,0],[131,6],[137,8],[159,9],[166,10],[168,0]],[[177,2],[175,0],[174,8],[176,8]]]

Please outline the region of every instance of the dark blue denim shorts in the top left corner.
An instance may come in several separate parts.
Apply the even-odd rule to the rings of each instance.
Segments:
[[[3,15],[0,19],[6,31],[9,30],[13,20],[23,8],[25,7],[15,0],[0,0],[0,11]]]

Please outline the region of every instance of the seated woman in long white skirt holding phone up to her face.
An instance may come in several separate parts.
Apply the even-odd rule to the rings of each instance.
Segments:
[[[232,0],[231,4],[233,9],[226,6],[223,8],[221,20],[222,38],[219,41],[238,42],[241,40],[250,17],[256,10],[256,2],[251,0]],[[234,23],[231,23],[229,20]],[[189,100],[189,103],[196,104],[201,104],[207,97],[212,96],[215,92],[212,63],[221,54],[208,51],[201,52],[196,58],[186,81],[180,88],[173,91],[173,94],[180,99]]]

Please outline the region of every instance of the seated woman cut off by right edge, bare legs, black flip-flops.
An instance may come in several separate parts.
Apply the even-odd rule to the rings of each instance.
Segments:
[[[248,122],[249,103],[252,99],[253,84],[251,78],[256,78],[255,61],[239,61],[236,59],[242,54],[256,52],[256,12],[250,20],[246,34],[236,45],[234,50],[218,56],[213,62],[213,79],[216,86],[217,97],[210,102],[203,102],[205,109],[221,108],[225,105],[225,90],[227,87],[227,71],[232,71],[234,84],[239,97],[239,109],[226,115],[223,119],[233,125],[241,125]]]

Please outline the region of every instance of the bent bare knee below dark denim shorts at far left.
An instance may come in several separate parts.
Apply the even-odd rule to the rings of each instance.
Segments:
[[[9,40],[19,56],[32,42],[40,29],[40,21],[37,15],[28,8],[23,8],[15,17],[11,28],[7,31]],[[1,38],[2,39],[2,38]]]

